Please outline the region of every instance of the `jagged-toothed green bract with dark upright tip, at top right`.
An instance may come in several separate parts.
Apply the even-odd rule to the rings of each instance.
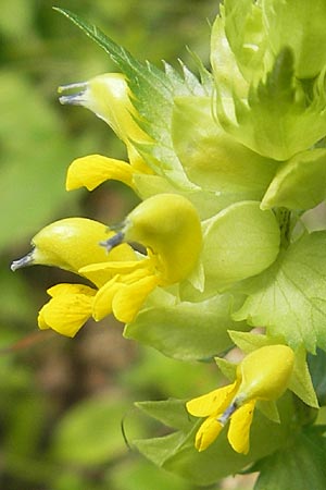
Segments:
[[[287,160],[326,134],[324,73],[313,84],[313,95],[294,77],[293,54],[285,47],[266,78],[251,84],[247,99],[236,91],[230,99],[217,93],[221,125],[237,142],[275,160]]]

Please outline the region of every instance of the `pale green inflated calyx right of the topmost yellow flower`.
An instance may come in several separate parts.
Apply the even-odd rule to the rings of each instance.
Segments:
[[[210,97],[174,101],[172,135],[175,151],[191,182],[202,189],[261,199],[277,163],[238,144],[212,114]]]

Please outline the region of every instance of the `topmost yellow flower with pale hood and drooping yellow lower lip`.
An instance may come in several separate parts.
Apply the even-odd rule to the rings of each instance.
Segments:
[[[82,186],[92,191],[106,180],[117,180],[134,187],[135,173],[152,173],[135,147],[135,143],[146,144],[151,138],[137,122],[140,117],[123,74],[105,73],[86,83],[62,86],[59,90],[63,94],[60,97],[62,103],[84,106],[105,121],[125,143],[129,159],[127,163],[101,155],[77,158],[67,172],[67,191]],[[71,90],[73,93],[67,94]]]

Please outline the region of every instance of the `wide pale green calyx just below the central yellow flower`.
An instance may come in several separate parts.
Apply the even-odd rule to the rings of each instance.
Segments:
[[[156,292],[156,295],[160,292]],[[168,297],[170,296],[170,297]],[[199,303],[172,303],[160,296],[126,326],[124,336],[150,345],[166,356],[183,360],[205,359],[231,345],[227,329],[246,329],[230,318],[233,296],[213,296]],[[152,299],[154,296],[152,295]]]

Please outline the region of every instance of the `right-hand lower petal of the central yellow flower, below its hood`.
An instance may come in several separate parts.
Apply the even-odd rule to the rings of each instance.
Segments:
[[[147,296],[156,285],[155,275],[148,275],[129,285],[122,284],[112,303],[115,318],[124,323],[133,321]]]

